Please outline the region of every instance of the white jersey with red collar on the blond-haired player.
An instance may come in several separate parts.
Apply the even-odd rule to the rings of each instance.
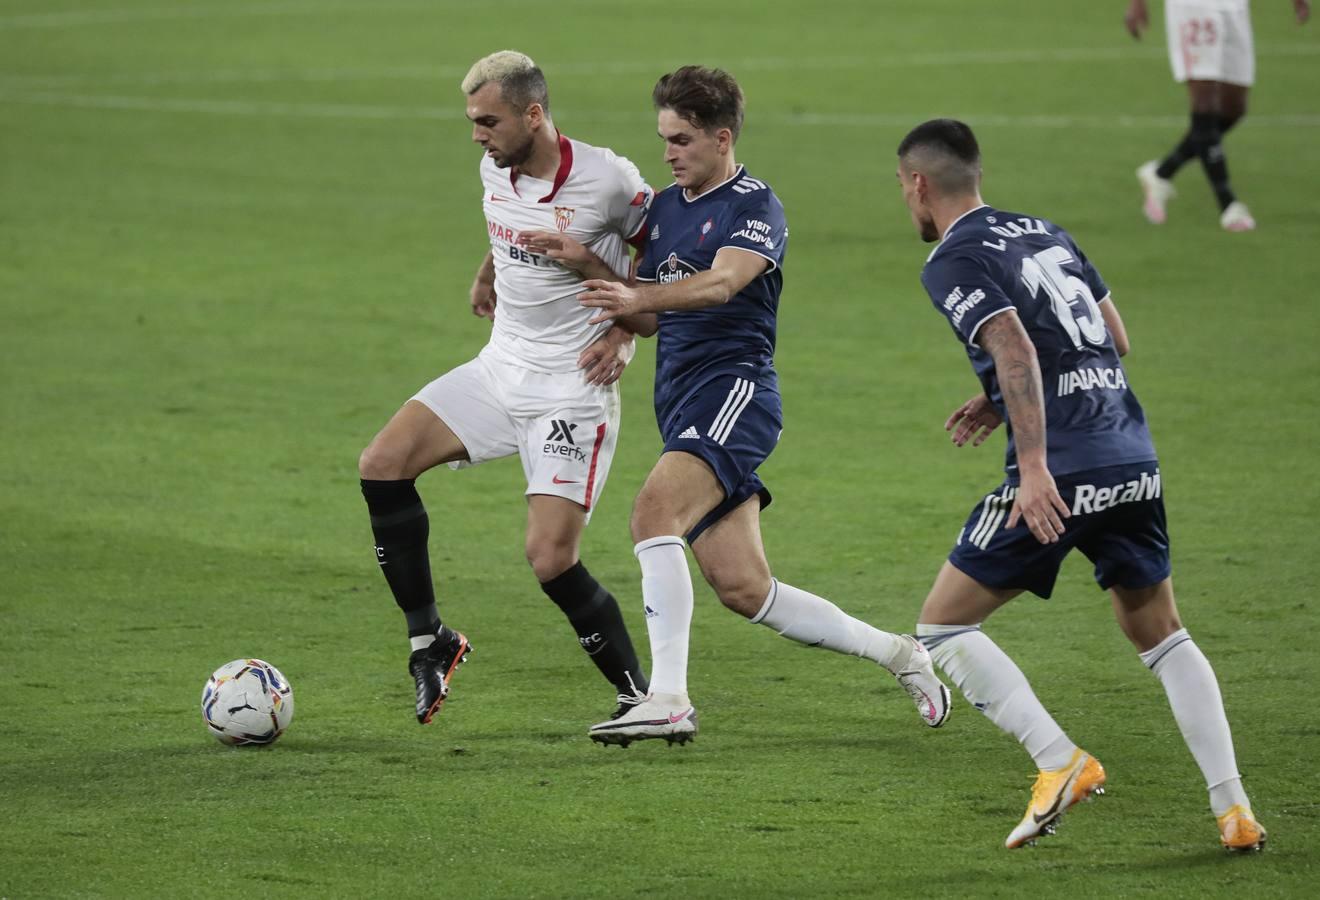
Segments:
[[[653,193],[628,160],[560,136],[554,181],[498,168],[482,156],[482,207],[495,260],[495,327],[487,350],[539,372],[572,372],[610,326],[578,304],[581,273],[517,245],[523,231],[562,231],[620,277],[642,238]]]

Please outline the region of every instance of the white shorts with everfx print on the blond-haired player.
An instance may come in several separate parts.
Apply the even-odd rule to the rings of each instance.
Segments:
[[[527,494],[573,500],[587,516],[601,498],[619,437],[619,385],[582,372],[548,375],[483,350],[413,397],[450,428],[475,466],[517,454]]]

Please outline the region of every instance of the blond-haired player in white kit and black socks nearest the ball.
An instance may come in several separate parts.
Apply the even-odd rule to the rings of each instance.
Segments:
[[[517,455],[527,475],[527,560],[582,649],[614,685],[622,714],[647,678],[614,596],[578,558],[582,529],[610,472],[619,373],[632,333],[591,325],[577,302],[587,277],[626,277],[652,191],[636,166],[569,140],[549,115],[541,70],[510,50],[462,82],[480,161],[491,249],[471,289],[494,321],[475,359],[418,391],[362,453],[376,560],[404,611],[417,721],[430,722],[471,649],[436,608],[429,520],[414,479]]]

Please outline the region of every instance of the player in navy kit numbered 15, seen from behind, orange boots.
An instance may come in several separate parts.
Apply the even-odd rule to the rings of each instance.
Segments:
[[[981,152],[965,124],[924,123],[898,156],[912,222],[923,240],[940,241],[921,284],[983,388],[945,426],[961,445],[1008,422],[1007,479],[972,511],[917,624],[945,674],[1040,769],[1006,846],[1051,834],[1064,810],[1105,784],[1100,763],[981,631],[1024,590],[1048,598],[1076,546],[1164,685],[1224,846],[1259,849],[1265,829],[1242,789],[1218,682],[1173,603],[1159,462],[1118,359],[1127,335],[1109,289],[1063,228],[981,201]]]

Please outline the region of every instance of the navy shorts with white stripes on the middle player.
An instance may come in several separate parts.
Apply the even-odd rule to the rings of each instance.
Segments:
[[[784,409],[775,387],[751,379],[723,375],[693,391],[673,410],[664,433],[664,451],[690,453],[704,461],[725,490],[725,499],[690,532],[688,542],[741,507],[760,496],[770,505],[770,491],[756,475],[779,443]]]

